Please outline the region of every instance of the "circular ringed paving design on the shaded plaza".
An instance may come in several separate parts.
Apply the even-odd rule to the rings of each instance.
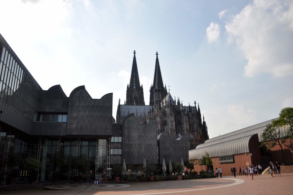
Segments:
[[[127,184],[69,184],[69,185],[52,185],[46,186],[45,189],[57,190],[95,190],[95,189],[117,189],[130,187]]]

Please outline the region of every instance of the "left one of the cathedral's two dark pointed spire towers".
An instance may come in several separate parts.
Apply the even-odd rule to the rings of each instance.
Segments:
[[[131,76],[130,76],[130,83],[127,84],[126,89],[126,104],[144,104],[144,90],[143,87],[139,84],[139,76],[137,70],[137,63],[135,57],[135,50],[133,52],[133,61],[132,61],[132,69],[131,69]]]

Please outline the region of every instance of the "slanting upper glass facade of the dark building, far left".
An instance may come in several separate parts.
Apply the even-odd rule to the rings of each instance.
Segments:
[[[29,120],[34,121],[37,115],[39,87],[4,46],[1,50],[1,101]]]

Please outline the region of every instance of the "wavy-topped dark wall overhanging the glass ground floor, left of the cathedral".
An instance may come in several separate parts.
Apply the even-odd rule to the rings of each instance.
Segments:
[[[112,135],[113,94],[92,99],[84,86],[69,96],[67,135]]]

